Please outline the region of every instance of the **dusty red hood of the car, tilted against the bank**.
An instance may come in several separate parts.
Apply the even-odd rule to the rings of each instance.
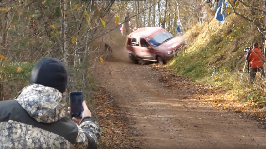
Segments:
[[[174,37],[171,40],[168,40],[167,42],[161,44],[158,47],[155,47],[156,50],[162,50],[162,51],[169,51],[169,50],[174,50],[180,45],[184,44],[185,40],[183,37]]]

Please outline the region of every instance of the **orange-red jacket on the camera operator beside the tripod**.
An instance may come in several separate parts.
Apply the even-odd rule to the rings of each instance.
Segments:
[[[256,54],[254,51],[256,52]],[[259,48],[254,48],[253,50],[251,50],[251,53],[247,59],[248,61],[250,61],[250,68],[262,67],[262,62],[261,62],[262,58],[263,55]]]

